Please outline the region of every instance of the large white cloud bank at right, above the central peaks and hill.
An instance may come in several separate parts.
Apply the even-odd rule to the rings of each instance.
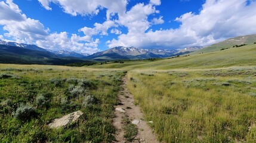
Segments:
[[[136,7],[138,5],[134,8]],[[138,25],[135,27],[143,25],[141,32],[132,32],[132,27],[124,23],[129,32],[109,41],[109,47],[122,45],[141,48],[183,48],[206,46],[226,38],[249,35],[256,33],[255,7],[255,1],[248,4],[246,0],[206,0],[199,14],[190,12],[176,18],[176,21],[181,23],[178,29],[156,31],[148,30],[149,24],[143,20],[145,18],[140,17],[138,19],[142,20],[136,22]],[[138,9],[143,11],[141,6]],[[144,24],[141,24],[142,21]],[[154,19],[152,23],[153,21]],[[145,32],[146,30],[148,31]]]

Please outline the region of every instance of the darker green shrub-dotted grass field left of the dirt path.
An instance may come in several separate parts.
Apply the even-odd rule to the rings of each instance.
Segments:
[[[113,105],[124,71],[0,65],[1,142],[111,142]],[[66,128],[48,123],[84,114]]]

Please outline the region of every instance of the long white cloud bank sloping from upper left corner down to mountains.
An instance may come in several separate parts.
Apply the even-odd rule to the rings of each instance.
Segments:
[[[66,49],[89,54],[99,51],[97,48],[99,40],[91,38],[94,33],[90,32],[90,29],[87,29],[89,31],[87,33],[91,33],[91,35],[86,34],[85,36],[73,34],[69,37],[67,32],[49,33],[50,29],[45,28],[39,20],[27,18],[18,5],[11,0],[0,2],[0,24],[7,31],[4,36],[0,36],[1,39],[8,38],[18,43],[36,43],[42,48],[51,50]],[[83,30],[86,32],[85,29]],[[100,30],[105,32],[102,27]]]

